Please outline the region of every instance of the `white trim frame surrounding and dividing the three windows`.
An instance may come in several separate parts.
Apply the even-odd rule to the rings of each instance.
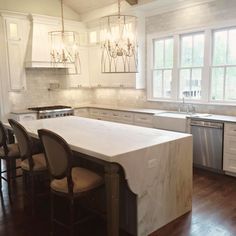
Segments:
[[[147,35],[146,48],[147,48],[147,64],[146,64],[146,84],[147,84],[147,101],[151,102],[170,102],[170,103],[181,103],[182,99],[179,97],[179,68],[180,68],[180,36],[186,34],[194,34],[198,32],[204,32],[205,42],[204,42],[204,65],[202,71],[202,98],[200,100],[196,99],[185,99],[187,102],[193,104],[210,104],[210,105],[229,105],[235,106],[236,101],[223,101],[223,100],[212,100],[211,99],[211,78],[212,78],[212,66],[213,66],[213,32],[217,30],[224,30],[236,28],[236,20],[222,21],[215,24],[208,25],[206,27],[196,27],[189,29],[182,29],[176,31],[163,31],[159,33],[152,33]],[[172,73],[172,86],[170,99],[167,98],[153,98],[152,96],[152,62],[153,62],[153,45],[152,41],[154,39],[162,39],[167,37],[174,38],[174,63],[173,63],[173,73]]]

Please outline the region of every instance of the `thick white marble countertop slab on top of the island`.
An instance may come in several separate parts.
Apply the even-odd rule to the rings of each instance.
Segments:
[[[30,135],[49,129],[61,135],[74,151],[116,162],[121,154],[189,137],[189,134],[69,116],[20,122]],[[112,147],[112,148],[110,148]]]

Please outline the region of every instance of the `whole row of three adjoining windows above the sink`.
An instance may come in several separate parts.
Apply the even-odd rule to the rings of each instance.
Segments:
[[[148,35],[148,99],[236,105],[236,25]]]

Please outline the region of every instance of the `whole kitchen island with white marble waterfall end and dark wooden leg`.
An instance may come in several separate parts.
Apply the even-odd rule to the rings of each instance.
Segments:
[[[81,117],[21,124],[61,135],[75,152],[104,163],[108,235],[119,235],[119,169],[136,195],[136,230],[147,236],[192,208],[192,137]],[[9,125],[6,125],[9,128]]]

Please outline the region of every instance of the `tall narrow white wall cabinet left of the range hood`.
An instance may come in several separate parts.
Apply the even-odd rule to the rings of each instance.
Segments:
[[[29,23],[24,19],[4,17],[7,43],[9,87],[12,91],[26,89],[24,60],[26,55]]]

